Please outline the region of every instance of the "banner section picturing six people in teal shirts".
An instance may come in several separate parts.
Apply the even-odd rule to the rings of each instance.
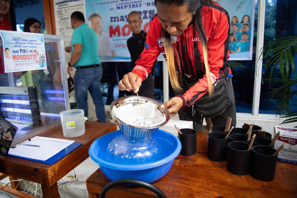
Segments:
[[[252,60],[255,0],[214,0],[230,16],[229,60]]]

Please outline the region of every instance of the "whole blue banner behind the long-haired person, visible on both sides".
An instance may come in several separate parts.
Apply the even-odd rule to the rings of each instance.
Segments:
[[[255,0],[214,0],[230,16],[229,60],[251,60]],[[127,15],[141,13],[142,29],[148,31],[149,21],[157,13],[154,0],[86,0],[86,23],[98,35],[98,51],[102,62],[130,61],[127,39],[132,37]],[[160,54],[159,61],[165,60]]]

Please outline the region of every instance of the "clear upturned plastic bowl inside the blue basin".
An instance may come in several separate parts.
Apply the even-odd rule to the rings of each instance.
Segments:
[[[121,135],[106,148],[106,161],[114,164],[137,165],[162,159],[161,146],[154,138],[135,139]]]

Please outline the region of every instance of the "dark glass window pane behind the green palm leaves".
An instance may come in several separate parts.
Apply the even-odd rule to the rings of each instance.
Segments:
[[[293,36],[297,34],[297,21],[296,21],[296,0],[270,0],[266,1],[266,12],[265,12],[265,34],[264,34],[264,45],[269,41],[285,36]],[[263,67],[268,59],[263,60]],[[296,62],[296,57],[295,57]],[[296,63],[295,63],[296,64]],[[272,67],[268,68],[263,74],[263,82],[261,84],[261,95],[260,95],[260,114],[275,114],[274,108],[278,105],[278,102],[274,99],[270,101],[270,94],[268,92],[275,90],[277,87],[283,85],[283,81],[272,81],[268,82]],[[263,72],[264,70],[262,70]],[[291,68],[289,74],[293,77]],[[296,73],[297,75],[297,73]],[[295,76],[296,77],[296,76]],[[272,78],[282,79],[279,66],[273,70]],[[297,110],[297,109],[296,109]],[[295,110],[295,111],[296,111]]]

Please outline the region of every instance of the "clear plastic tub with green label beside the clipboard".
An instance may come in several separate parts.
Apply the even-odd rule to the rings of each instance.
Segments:
[[[78,137],[85,133],[84,114],[83,109],[71,109],[60,113],[65,137]]]

